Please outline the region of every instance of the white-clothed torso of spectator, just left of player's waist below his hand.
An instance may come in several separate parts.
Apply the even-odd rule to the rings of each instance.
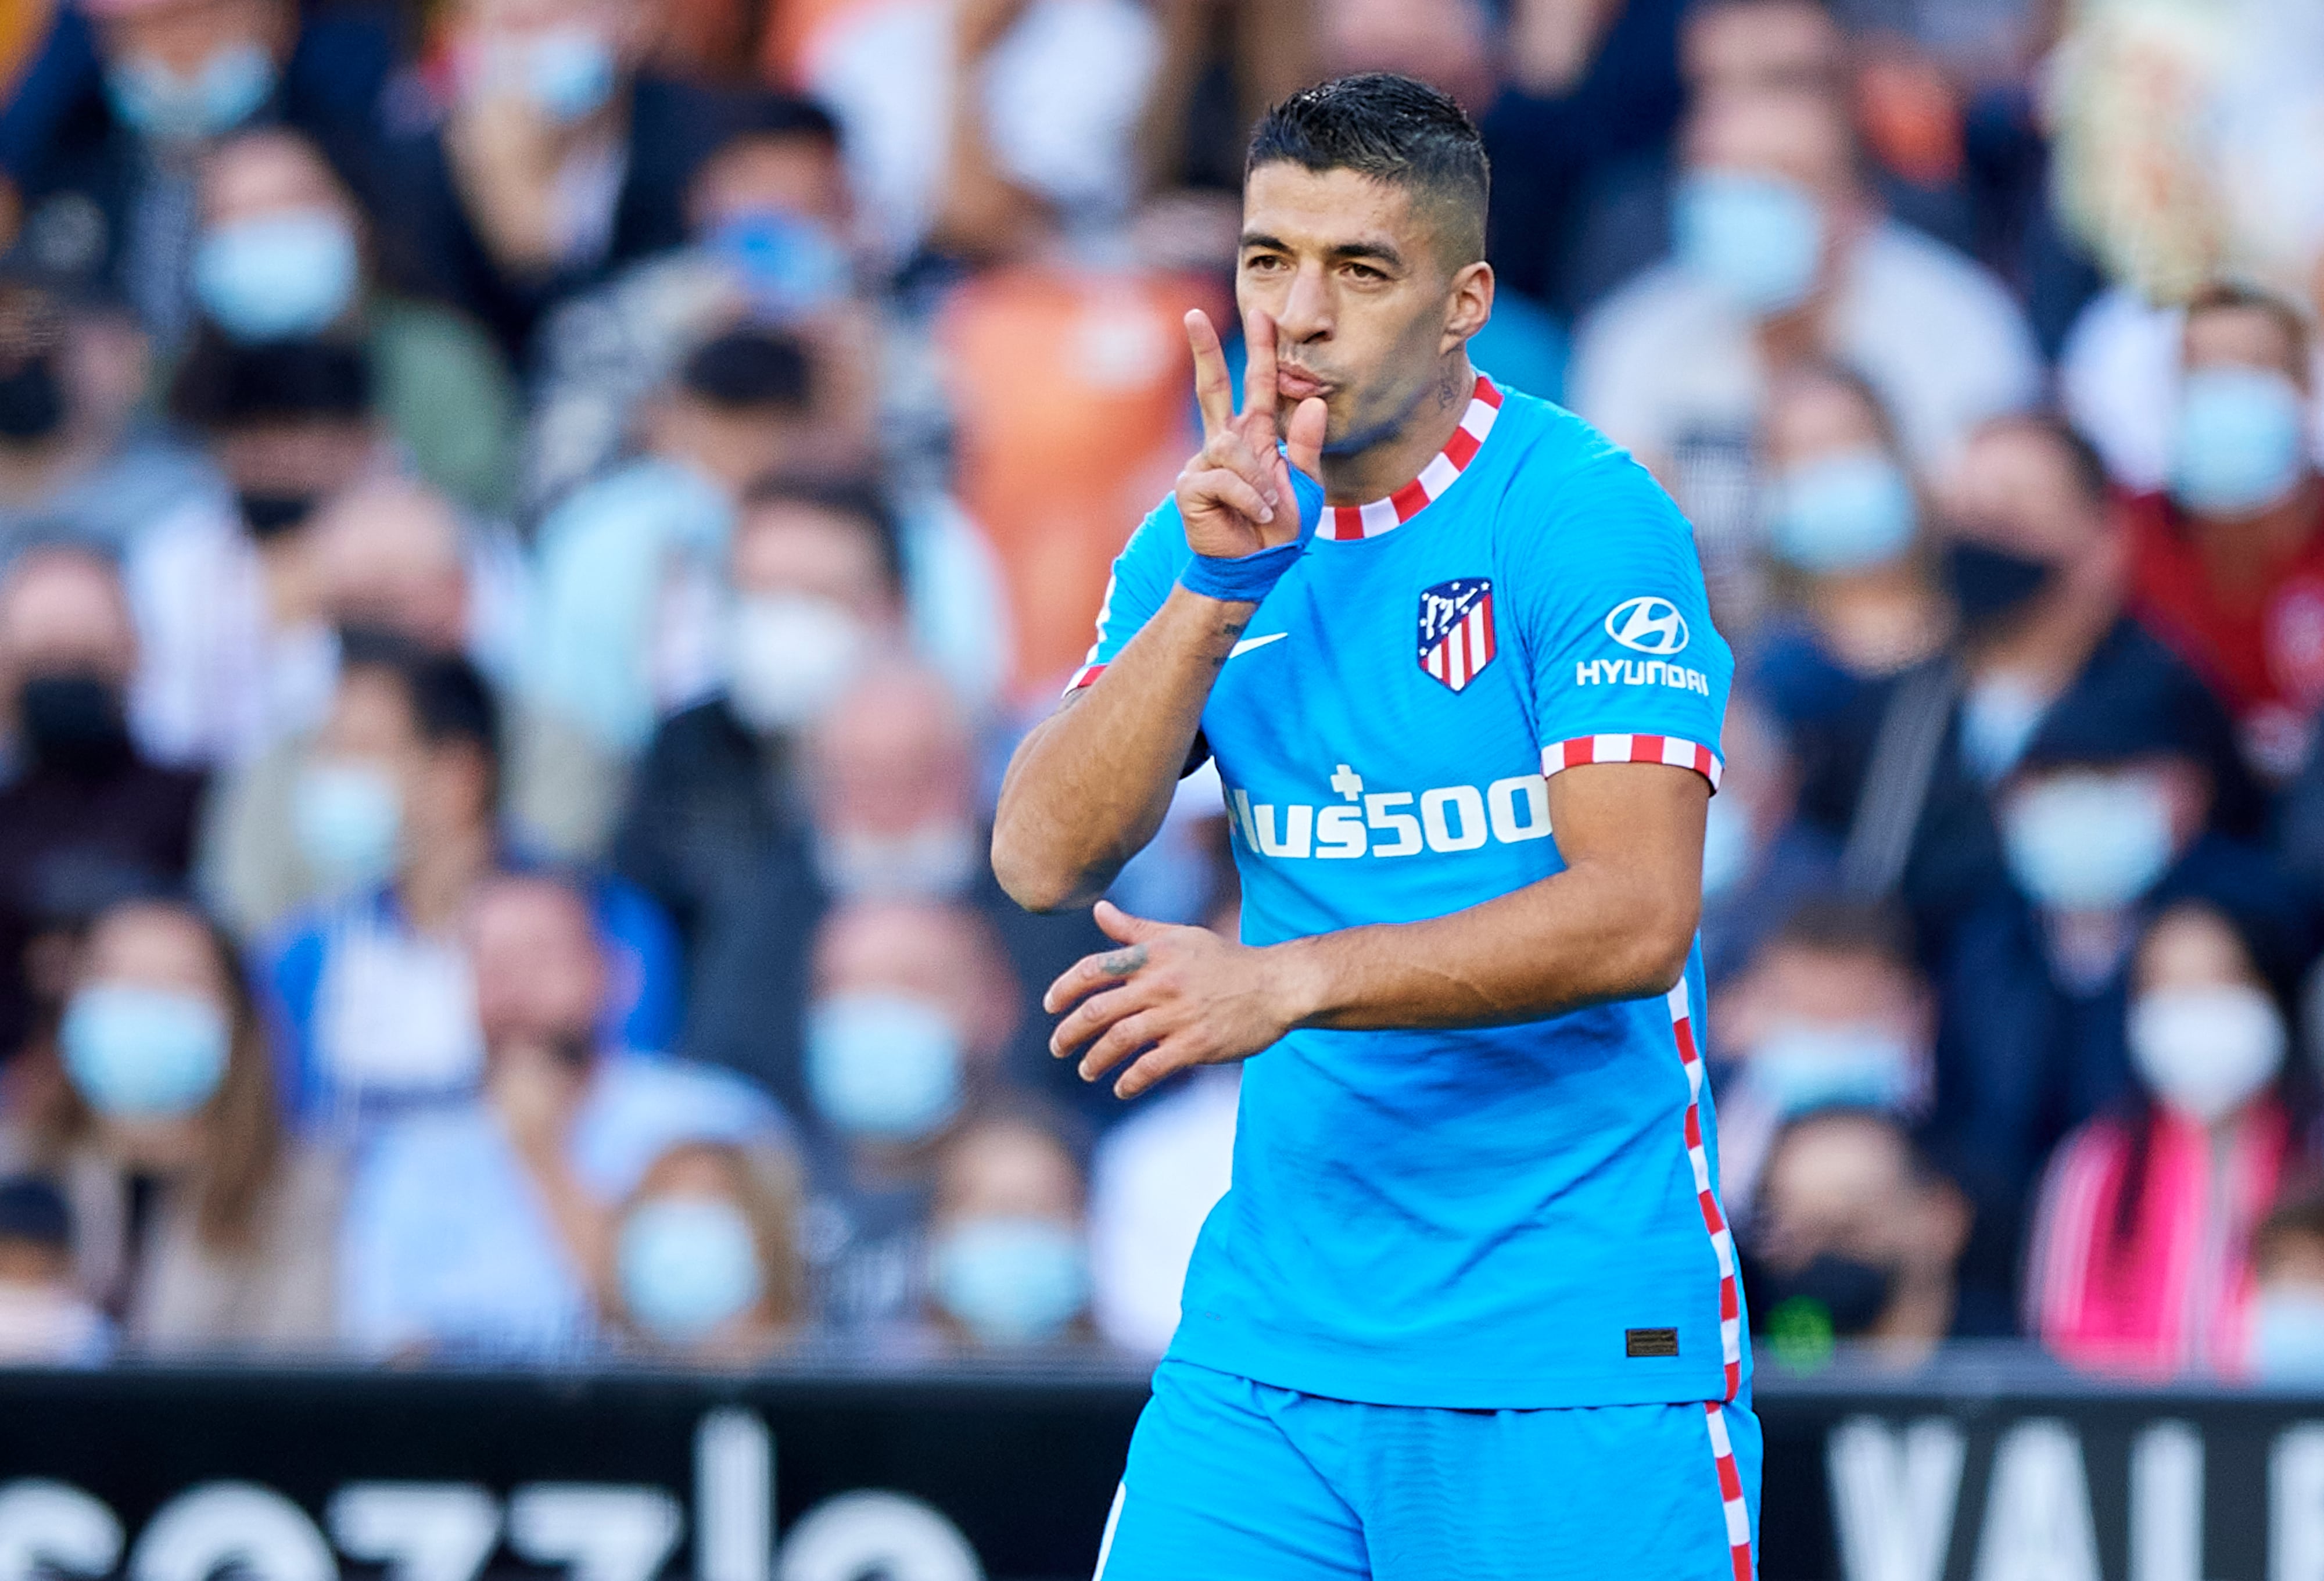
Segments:
[[[1106,1344],[1162,1355],[1195,1237],[1234,1174],[1239,1067],[1206,1067],[1136,1107],[1090,1162],[1090,1316]]]

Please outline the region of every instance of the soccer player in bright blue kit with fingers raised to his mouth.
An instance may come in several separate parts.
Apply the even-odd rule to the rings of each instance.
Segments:
[[[1085,904],[1211,756],[1243,877],[1241,944],[1099,904],[1048,990],[1125,1097],[1248,1060],[1102,1581],[1752,1572],[1694,949],[1734,663],[1655,481],[1469,365],[1485,181],[1404,77],[1260,123],[1243,409],[1188,314],[1202,453],[1002,791],[1002,884]]]

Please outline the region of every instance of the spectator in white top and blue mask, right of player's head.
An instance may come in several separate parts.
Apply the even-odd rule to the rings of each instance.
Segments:
[[[1815,93],[1720,95],[1685,133],[1671,260],[1580,326],[1573,407],[1669,477],[1717,558],[1776,370],[1841,358],[1896,412],[1915,467],[2033,400],[2040,367],[2001,286],[1882,219],[1845,112]]]

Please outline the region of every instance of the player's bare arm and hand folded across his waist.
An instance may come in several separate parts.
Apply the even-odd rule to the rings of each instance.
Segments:
[[[1664,993],[1701,914],[1710,786],[1659,763],[1550,779],[1566,870],[1425,923],[1350,928],[1253,949],[1206,928],[1097,909],[1120,949],[1078,960],[1043,1007],[1090,1081],[1136,1097],[1190,1065],[1260,1053],[1292,1028],[1480,1028]],[[1071,1011],[1071,1014],[1067,1014]]]

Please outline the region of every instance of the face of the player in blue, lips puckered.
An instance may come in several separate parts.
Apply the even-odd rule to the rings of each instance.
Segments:
[[[1278,421],[1320,395],[1327,451],[1376,444],[1441,381],[1464,339],[1448,330],[1452,274],[1399,186],[1281,160],[1243,184],[1234,295],[1276,321]]]

